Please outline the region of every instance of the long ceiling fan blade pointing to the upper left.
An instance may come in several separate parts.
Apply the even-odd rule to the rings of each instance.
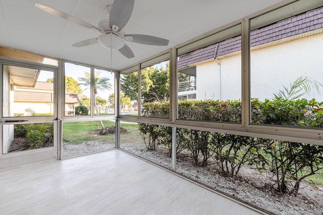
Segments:
[[[76,23],[76,24],[78,24],[78,25],[81,25],[81,26],[83,26],[83,27],[85,27],[85,28],[89,28],[89,29],[92,29],[92,30],[94,30],[94,31],[98,31],[98,32],[100,32],[100,33],[101,33],[101,30],[100,30],[100,29],[98,29],[97,27],[95,27],[95,26],[91,25],[90,23],[87,23],[87,22],[85,22],[85,21],[83,21],[83,20],[80,20],[80,19],[79,19],[79,18],[77,18],[77,17],[74,17],[74,16],[72,16],[72,15],[66,14],[66,13],[64,13],[64,12],[62,12],[62,11],[59,11],[59,10],[56,10],[56,9],[50,8],[50,7],[48,7],[48,6],[42,5],[42,4],[37,3],[37,2],[35,3],[35,7],[36,7],[36,8],[39,8],[39,9],[41,9],[41,10],[43,10],[43,11],[45,11],[45,12],[49,13],[49,14],[52,14],[52,15],[55,15],[55,16],[58,16],[58,17],[61,17],[62,19],[65,19],[65,20],[67,20],[67,21],[74,22],[74,23]]]

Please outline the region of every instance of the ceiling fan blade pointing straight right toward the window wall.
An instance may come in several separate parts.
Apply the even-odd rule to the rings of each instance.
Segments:
[[[124,38],[127,41],[145,44],[145,45],[167,46],[169,43],[169,40],[167,39],[144,35],[144,34],[125,34]]]

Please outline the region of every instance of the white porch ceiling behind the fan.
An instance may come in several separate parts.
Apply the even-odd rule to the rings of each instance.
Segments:
[[[94,26],[107,15],[113,0],[37,0],[37,2],[82,19]],[[177,44],[281,0],[136,0],[126,34],[148,34],[170,40],[169,46],[126,44],[135,57],[128,59],[112,52],[112,67],[119,70]],[[31,51],[46,56],[111,68],[111,51],[100,44],[73,47],[98,32],[48,14],[34,7],[32,0],[0,0],[0,46]]]

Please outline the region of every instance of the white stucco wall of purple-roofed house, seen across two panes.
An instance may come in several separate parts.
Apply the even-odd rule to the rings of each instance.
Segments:
[[[273,99],[283,85],[289,87],[300,76],[323,84],[322,50],[323,34],[317,34],[252,51],[251,98]],[[221,67],[215,60],[196,66],[196,99],[212,99],[213,95],[214,100],[241,99],[241,55],[218,61]],[[320,95],[313,91],[304,98],[323,101],[323,87],[320,91]]]

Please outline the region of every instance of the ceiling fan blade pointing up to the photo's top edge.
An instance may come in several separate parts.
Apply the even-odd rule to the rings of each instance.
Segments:
[[[110,28],[121,31],[128,23],[135,0],[115,0],[110,12]],[[117,28],[114,28],[116,26]]]

